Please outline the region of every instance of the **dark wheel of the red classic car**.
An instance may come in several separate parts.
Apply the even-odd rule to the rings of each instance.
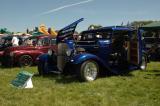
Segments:
[[[33,64],[33,59],[29,55],[22,55],[19,58],[19,65],[21,67],[31,66]]]

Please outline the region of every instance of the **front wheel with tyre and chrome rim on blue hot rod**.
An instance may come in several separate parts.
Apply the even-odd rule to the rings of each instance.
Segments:
[[[80,64],[78,76],[81,81],[94,81],[99,74],[99,67],[95,61],[88,60]]]

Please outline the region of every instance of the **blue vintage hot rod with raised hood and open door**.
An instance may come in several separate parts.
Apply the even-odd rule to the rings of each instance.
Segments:
[[[68,29],[62,32],[70,31]],[[60,39],[64,35],[66,37],[61,31],[58,33],[57,54],[38,57],[40,75],[50,72],[75,74],[82,81],[93,81],[106,72],[120,74],[124,70],[146,69],[147,55],[142,49],[141,34],[133,28],[113,26],[87,30],[81,33],[79,41]]]

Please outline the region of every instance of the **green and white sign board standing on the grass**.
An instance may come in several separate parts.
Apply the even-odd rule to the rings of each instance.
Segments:
[[[33,74],[27,71],[21,71],[16,78],[12,80],[11,84],[18,88],[33,88],[32,78]]]

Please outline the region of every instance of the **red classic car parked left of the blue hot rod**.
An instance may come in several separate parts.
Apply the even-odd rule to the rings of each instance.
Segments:
[[[24,40],[22,46],[8,47],[2,56],[2,65],[31,66],[36,58],[47,53],[48,49],[57,51],[56,39],[48,35],[32,36]]]

